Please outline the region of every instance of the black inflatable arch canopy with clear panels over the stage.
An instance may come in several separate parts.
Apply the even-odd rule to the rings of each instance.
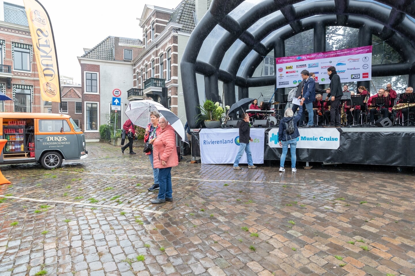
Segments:
[[[274,58],[286,56],[285,41],[311,29],[314,39],[310,53],[326,51],[327,26],[358,29],[355,47],[372,45],[372,35],[378,36],[399,54],[402,62],[373,64],[372,77],[409,75],[408,86],[415,85],[413,0],[263,0],[250,3],[249,10],[237,19],[229,15],[232,11],[237,12],[243,2],[212,0],[209,10],[188,40],[180,65],[186,117],[191,128],[199,126],[196,123],[200,114],[196,73],[204,77],[207,99],[212,99],[210,93],[218,94],[218,81],[222,81],[224,102],[230,106],[236,100],[235,86],[238,87],[239,99],[249,97],[249,87],[275,87],[275,75],[252,77],[255,68],[272,50]],[[281,12],[274,13],[276,11]],[[270,16],[273,13],[275,16]],[[262,24],[250,29],[257,22]],[[215,37],[211,47],[202,47],[205,39],[218,26],[226,32]],[[235,41],[242,41],[242,46],[235,47],[232,53],[227,52]],[[202,51],[203,48],[205,50]],[[221,66],[225,53],[232,55],[226,68]],[[198,56],[209,58],[208,61],[201,61]],[[369,81],[358,82],[357,85],[370,87]],[[283,101],[283,91],[278,88],[277,92],[281,94],[275,94],[275,101]]]

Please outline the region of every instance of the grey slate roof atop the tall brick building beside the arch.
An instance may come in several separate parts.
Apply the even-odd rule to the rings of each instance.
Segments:
[[[211,0],[207,0],[207,9],[209,9],[211,2]],[[193,29],[195,29],[194,13],[195,0],[183,0],[176,9],[174,9],[169,22],[183,24],[181,31],[191,33]]]

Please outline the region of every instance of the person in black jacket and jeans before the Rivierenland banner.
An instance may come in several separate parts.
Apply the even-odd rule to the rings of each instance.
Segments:
[[[242,122],[239,125],[239,151],[235,157],[234,161],[234,169],[241,169],[239,167],[239,160],[241,160],[242,155],[247,153],[247,160],[248,160],[248,169],[255,169],[254,162],[252,160],[251,155],[251,148],[249,148],[249,141],[253,142],[252,138],[249,136],[251,132],[249,126],[249,114],[243,113],[242,114]]]

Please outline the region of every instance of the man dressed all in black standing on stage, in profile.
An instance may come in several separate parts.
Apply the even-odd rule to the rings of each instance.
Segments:
[[[334,66],[327,68],[327,74],[330,76],[330,94],[327,95],[326,101],[330,98],[330,124],[326,127],[340,127],[340,99],[342,99],[343,91],[340,77]]]

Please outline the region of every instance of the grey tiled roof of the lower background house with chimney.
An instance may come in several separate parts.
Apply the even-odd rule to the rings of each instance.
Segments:
[[[120,43],[130,45],[143,45],[140,39],[131,39],[120,37]],[[83,58],[101,59],[106,61],[114,60],[114,41],[115,36],[107,36],[103,41],[98,43],[94,48],[88,50],[82,55]]]

